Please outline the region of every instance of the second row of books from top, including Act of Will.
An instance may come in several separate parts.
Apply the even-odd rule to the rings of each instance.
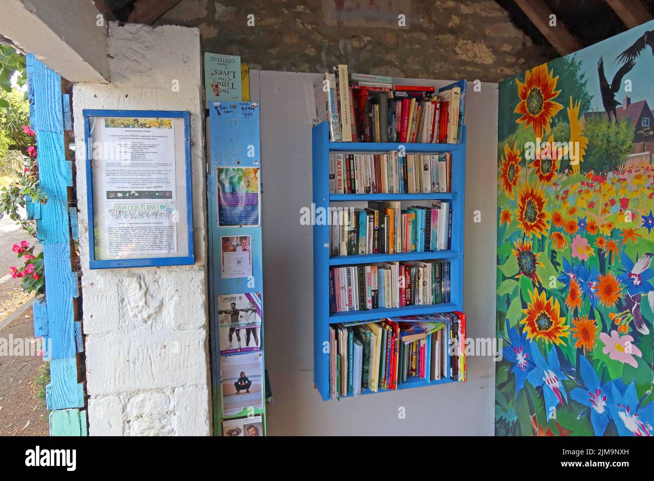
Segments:
[[[452,153],[330,153],[330,194],[430,194],[452,191]]]

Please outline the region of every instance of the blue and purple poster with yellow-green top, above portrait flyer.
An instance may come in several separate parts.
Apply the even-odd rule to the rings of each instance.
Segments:
[[[218,226],[258,226],[261,221],[258,167],[218,167]]]

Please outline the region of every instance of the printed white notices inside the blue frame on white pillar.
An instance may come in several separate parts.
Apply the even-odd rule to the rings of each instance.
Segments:
[[[171,118],[105,117],[100,149],[102,258],[177,253],[175,128]]]

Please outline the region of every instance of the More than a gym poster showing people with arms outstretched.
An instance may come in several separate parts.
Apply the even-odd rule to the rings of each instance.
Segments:
[[[218,296],[220,355],[260,349],[261,308],[260,293]]]

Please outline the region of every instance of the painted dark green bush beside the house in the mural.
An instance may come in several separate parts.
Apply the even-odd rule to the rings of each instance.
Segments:
[[[588,139],[588,149],[581,171],[611,171],[627,160],[634,139],[634,126],[628,119],[608,122],[604,116],[592,116],[586,120],[583,135]]]

